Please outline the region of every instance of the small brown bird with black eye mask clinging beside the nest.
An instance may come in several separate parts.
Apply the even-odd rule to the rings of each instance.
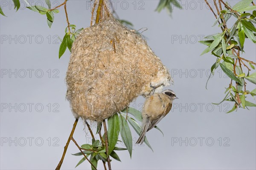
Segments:
[[[146,99],[142,112],[142,131],[136,144],[143,144],[146,132],[155,127],[169,113],[172,108],[172,101],[176,98],[175,93],[167,89]]]

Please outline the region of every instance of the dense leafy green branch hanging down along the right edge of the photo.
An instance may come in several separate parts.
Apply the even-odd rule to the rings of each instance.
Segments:
[[[205,2],[209,6],[207,0],[205,0]],[[229,4],[224,3],[223,0],[218,0],[219,6],[217,5],[216,0],[213,0],[213,2],[218,14],[217,16],[211,6],[209,6],[216,18],[213,26],[219,23],[218,26],[221,28],[222,33],[209,35],[205,37],[207,40],[200,41],[200,43],[208,46],[201,55],[211,52],[212,55],[217,57],[216,62],[211,67],[211,74],[213,75],[215,69],[220,66],[223,72],[231,79],[231,82],[225,91],[227,95],[218,104],[221,104],[223,101],[233,101],[235,103],[234,107],[229,112],[232,112],[239,107],[255,107],[256,104],[246,101],[245,98],[247,98],[247,95],[249,94],[252,96],[256,95],[256,89],[253,89],[252,91],[246,89],[246,81],[256,84],[256,73],[253,72],[250,74],[251,69],[255,69],[256,63],[242,58],[241,54],[244,52],[245,38],[256,43],[256,28],[253,25],[253,23],[256,23],[256,6],[252,0],[241,0],[232,8]],[[250,6],[250,4],[253,4],[253,6]],[[224,5],[224,9],[222,5]],[[252,13],[248,12],[252,10]],[[227,21],[231,16],[236,18],[236,22],[231,29],[228,29]],[[247,69],[247,74],[243,71],[243,67]],[[233,85],[233,81],[235,82],[235,85]]]

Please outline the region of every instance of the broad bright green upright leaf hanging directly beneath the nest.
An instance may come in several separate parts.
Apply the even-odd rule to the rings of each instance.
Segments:
[[[108,155],[113,151],[116,146],[120,131],[119,123],[120,122],[117,114],[114,114],[113,116],[108,118]]]

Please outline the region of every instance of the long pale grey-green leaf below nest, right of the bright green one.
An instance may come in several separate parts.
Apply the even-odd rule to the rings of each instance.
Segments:
[[[126,148],[128,149],[128,152],[132,153],[132,136],[131,136],[131,130],[129,128],[129,125],[125,118],[120,115],[119,116],[119,123],[120,123],[120,134],[122,137],[122,141],[125,143]]]

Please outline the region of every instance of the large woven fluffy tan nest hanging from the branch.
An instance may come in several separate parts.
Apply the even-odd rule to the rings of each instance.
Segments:
[[[67,99],[76,118],[103,121],[171,77],[141,35],[113,17],[86,28],[72,46]]]

